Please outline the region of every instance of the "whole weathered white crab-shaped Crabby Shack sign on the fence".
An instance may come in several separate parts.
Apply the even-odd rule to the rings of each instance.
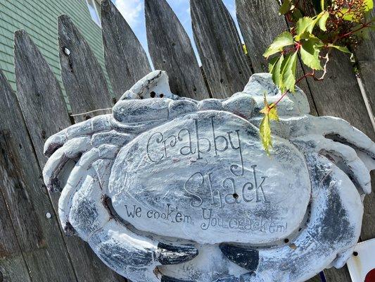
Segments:
[[[66,233],[133,282],[305,281],[341,267],[360,236],[375,145],[340,118],[279,104],[268,156],[258,130],[268,74],[229,99],[170,92],[155,71],[113,114],[47,140],[44,180]]]

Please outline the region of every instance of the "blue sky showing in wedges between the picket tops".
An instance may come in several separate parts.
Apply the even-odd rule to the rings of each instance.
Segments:
[[[144,0],[112,0],[117,6],[127,23],[138,37],[144,49],[147,51],[146,26],[144,20]],[[232,17],[236,17],[235,0],[223,0]],[[174,13],[184,25],[191,42],[193,43],[193,31],[191,30],[191,17],[189,0],[167,0]],[[193,48],[196,49],[193,43]]]

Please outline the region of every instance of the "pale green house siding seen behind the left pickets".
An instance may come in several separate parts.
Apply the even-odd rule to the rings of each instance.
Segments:
[[[63,89],[58,58],[57,19],[64,13],[72,18],[94,51],[110,87],[104,63],[101,28],[91,19],[86,0],[0,0],[0,68],[13,90],[16,90],[13,33],[19,29],[26,30],[32,37]]]

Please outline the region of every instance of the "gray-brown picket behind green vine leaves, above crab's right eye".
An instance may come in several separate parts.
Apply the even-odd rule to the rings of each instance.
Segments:
[[[281,32],[288,30],[286,20],[279,16],[279,4],[274,0],[236,0],[236,13],[239,26],[245,40],[248,54],[256,73],[267,73],[268,63],[263,54],[269,44]],[[297,77],[304,75],[301,63],[297,65]],[[298,86],[307,95],[311,114],[319,113],[314,104],[313,92],[307,80],[302,80]]]

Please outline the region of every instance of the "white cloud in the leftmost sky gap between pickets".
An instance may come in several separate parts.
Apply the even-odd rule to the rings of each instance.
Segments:
[[[144,1],[141,0],[112,0],[130,26],[139,24],[141,13],[144,11]]]

